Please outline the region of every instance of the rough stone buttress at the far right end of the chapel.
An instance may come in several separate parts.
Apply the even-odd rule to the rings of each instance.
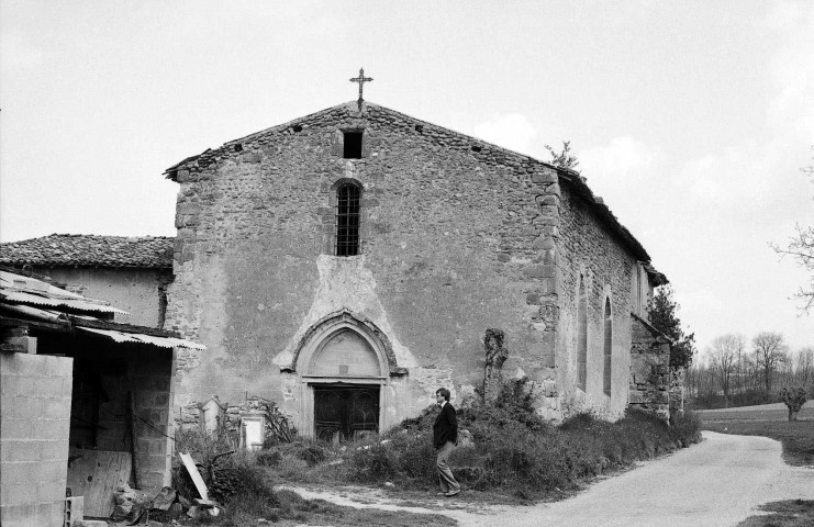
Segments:
[[[670,417],[670,340],[636,315],[631,315],[629,404]]]

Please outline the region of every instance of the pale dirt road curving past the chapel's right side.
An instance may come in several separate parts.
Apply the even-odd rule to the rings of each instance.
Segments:
[[[762,503],[814,500],[814,469],[789,467],[780,442],[765,437],[704,431],[704,441],[602,480],[569,500],[529,507],[427,501],[395,505],[367,490],[292,489],[306,498],[389,511],[445,514],[461,526],[732,526]],[[450,508],[459,507],[459,508]]]

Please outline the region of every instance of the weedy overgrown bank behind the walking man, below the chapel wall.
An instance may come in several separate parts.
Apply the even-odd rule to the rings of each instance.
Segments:
[[[325,445],[325,462],[310,469],[300,461],[299,470],[292,471],[291,452],[277,450],[276,470],[288,480],[391,482],[404,490],[434,489],[437,483],[431,439],[436,412],[437,408],[426,408],[380,440],[343,447]],[[534,412],[524,381],[506,384],[493,403],[464,405],[458,411],[458,422],[461,430],[469,431],[460,433],[460,439],[471,439],[461,440],[453,453],[456,478],[470,490],[523,500],[577,489],[593,476],[689,446],[700,438],[700,423],[690,413],[679,416],[671,427],[659,417],[636,410],[616,423],[579,414],[556,427]]]

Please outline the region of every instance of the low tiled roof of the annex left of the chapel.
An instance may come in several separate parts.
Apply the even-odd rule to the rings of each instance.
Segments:
[[[0,265],[171,269],[175,238],[52,234],[0,244]]]

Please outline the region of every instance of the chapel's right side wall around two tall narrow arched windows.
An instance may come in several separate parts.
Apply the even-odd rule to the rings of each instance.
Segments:
[[[620,415],[627,404],[631,355],[632,273],[636,259],[586,203],[573,186],[560,184],[557,243],[559,324],[558,381],[565,412],[591,408]],[[580,276],[587,293],[588,357],[586,391],[577,388],[578,294]],[[603,391],[604,309],[610,299],[612,322],[611,396]]]

